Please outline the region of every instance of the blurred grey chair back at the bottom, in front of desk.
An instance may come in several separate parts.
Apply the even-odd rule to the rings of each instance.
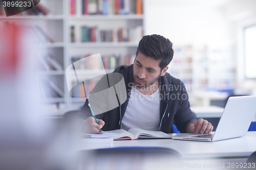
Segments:
[[[169,148],[121,147],[88,152],[80,152],[79,164],[84,169],[168,169],[183,161],[177,151]]]

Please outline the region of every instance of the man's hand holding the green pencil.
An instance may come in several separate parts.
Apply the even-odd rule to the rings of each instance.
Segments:
[[[83,132],[84,133],[94,133],[94,134],[103,134],[104,132],[100,132],[99,129],[101,129],[104,125],[105,122],[101,119],[97,119],[99,125],[96,123],[94,117],[88,117],[86,120],[83,120]]]

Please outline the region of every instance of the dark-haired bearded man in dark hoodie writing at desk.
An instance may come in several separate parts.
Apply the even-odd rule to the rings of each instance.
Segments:
[[[127,100],[120,107],[97,115],[98,124],[87,100],[76,115],[83,132],[100,134],[135,127],[172,133],[175,123],[182,133],[210,133],[214,127],[207,120],[197,120],[191,112],[184,84],[166,72],[174,55],[172,47],[172,42],[163,36],[144,36],[134,64],[121,65],[114,71],[123,75]]]

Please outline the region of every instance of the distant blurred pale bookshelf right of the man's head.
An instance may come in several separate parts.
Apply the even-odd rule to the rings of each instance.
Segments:
[[[168,72],[182,80],[188,91],[234,88],[236,60],[232,44],[174,46]]]

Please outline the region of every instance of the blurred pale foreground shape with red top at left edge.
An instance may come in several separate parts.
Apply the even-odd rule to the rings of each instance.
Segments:
[[[38,46],[15,21],[0,25],[0,37],[0,169],[74,169],[72,138],[38,109]]]

